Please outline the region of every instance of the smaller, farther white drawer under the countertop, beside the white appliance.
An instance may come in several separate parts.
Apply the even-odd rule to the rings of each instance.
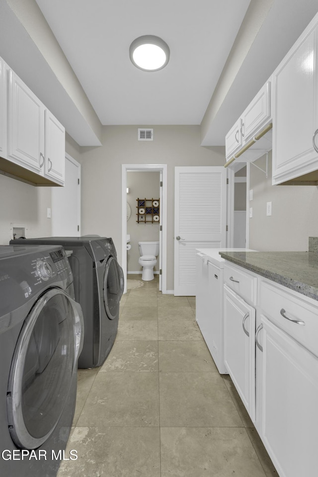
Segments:
[[[226,262],[224,264],[224,283],[247,303],[256,305],[257,277],[255,275],[242,267]]]

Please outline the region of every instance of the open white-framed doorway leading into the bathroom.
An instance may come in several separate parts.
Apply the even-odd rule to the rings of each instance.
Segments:
[[[154,268],[159,274],[159,290],[166,293],[166,164],[122,164],[122,268],[141,273],[139,241],[159,241],[159,258]],[[159,202],[159,214],[147,202],[145,214],[139,214],[137,199]],[[149,207],[146,214],[146,207]],[[150,211],[150,208],[153,210]],[[153,212],[152,216],[151,213]],[[129,238],[129,241],[127,239]],[[128,249],[128,250],[127,250]],[[126,293],[126,280],[125,289]]]

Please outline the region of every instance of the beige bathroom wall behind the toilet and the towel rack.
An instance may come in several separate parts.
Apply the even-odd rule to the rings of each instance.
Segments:
[[[127,202],[131,208],[131,217],[127,222],[127,234],[130,234],[131,249],[127,253],[127,271],[142,271],[138,260],[140,257],[138,242],[140,240],[159,240],[159,223],[138,223],[137,222],[137,198],[159,199],[160,195],[160,172],[127,172],[127,187],[130,191],[127,194]],[[159,262],[155,270],[159,270]]]

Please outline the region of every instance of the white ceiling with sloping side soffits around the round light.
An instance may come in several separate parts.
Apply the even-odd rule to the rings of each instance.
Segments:
[[[222,146],[317,10],[317,0],[0,0],[0,56],[80,146],[124,124],[201,125],[201,145]],[[147,34],[170,48],[158,72],[129,59]]]

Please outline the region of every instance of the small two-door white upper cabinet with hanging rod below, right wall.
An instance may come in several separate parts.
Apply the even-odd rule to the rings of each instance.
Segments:
[[[271,149],[271,142],[269,143],[270,147],[268,147],[268,141],[258,143],[258,138],[257,140],[254,139],[271,121],[270,83],[270,80],[266,81],[226,135],[225,154],[227,161],[232,159],[234,155],[239,157],[240,150],[244,146],[251,146],[253,143],[255,143],[255,153],[250,154],[248,160],[255,160],[264,154],[264,149]],[[248,144],[250,142],[251,144]],[[244,159],[246,160],[246,158]]]

